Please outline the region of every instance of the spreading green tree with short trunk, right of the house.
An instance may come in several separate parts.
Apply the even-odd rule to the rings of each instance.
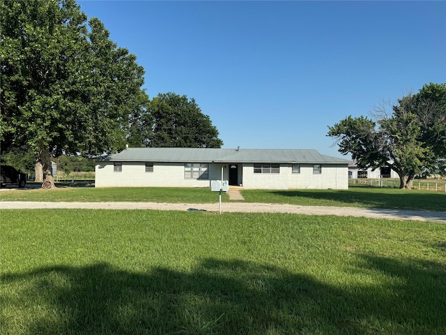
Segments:
[[[359,168],[391,168],[400,188],[412,188],[417,174],[445,173],[446,84],[426,84],[399,99],[391,112],[376,112],[376,121],[349,116],[328,127],[342,154],[351,154]]]

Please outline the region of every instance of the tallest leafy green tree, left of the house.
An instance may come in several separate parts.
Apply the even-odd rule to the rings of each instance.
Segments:
[[[0,34],[2,151],[27,145],[54,187],[50,155],[123,147],[144,69],[100,20],[75,0],[1,1]]]

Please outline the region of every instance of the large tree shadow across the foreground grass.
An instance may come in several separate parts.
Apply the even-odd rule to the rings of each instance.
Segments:
[[[387,279],[327,285],[277,267],[216,259],[203,260],[192,271],[158,267],[142,274],[107,263],[43,267],[1,276],[1,285],[10,289],[0,291],[0,329],[4,334],[14,329],[20,334],[445,334],[444,265],[362,256],[355,269],[378,271]],[[24,315],[8,315],[8,308]]]

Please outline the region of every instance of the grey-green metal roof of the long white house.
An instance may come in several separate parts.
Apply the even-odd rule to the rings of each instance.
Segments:
[[[128,148],[110,161],[177,163],[351,163],[314,149]]]

